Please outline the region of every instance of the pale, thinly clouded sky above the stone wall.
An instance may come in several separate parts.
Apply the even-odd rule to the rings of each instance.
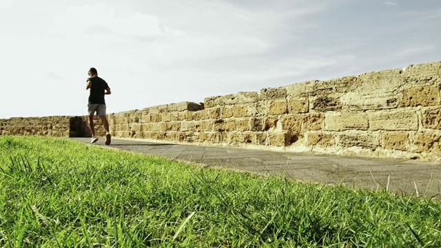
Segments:
[[[0,118],[86,115],[441,61],[440,0],[0,0]]]

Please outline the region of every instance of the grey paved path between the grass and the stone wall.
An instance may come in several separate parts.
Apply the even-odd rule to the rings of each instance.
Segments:
[[[90,143],[90,138],[72,138]],[[94,145],[104,145],[103,138]],[[112,138],[109,146],[181,161],[260,174],[282,175],[316,183],[345,183],[367,189],[386,189],[414,196],[441,198],[441,163],[387,158],[362,158],[270,152],[231,147],[152,143]],[[389,182],[389,183],[388,183]]]

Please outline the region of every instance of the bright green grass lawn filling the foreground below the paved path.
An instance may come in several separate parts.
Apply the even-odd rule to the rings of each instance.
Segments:
[[[0,137],[0,247],[440,247],[441,203]]]

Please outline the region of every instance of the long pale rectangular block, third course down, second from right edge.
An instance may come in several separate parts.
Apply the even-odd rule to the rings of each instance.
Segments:
[[[369,130],[418,130],[418,114],[413,110],[381,111],[369,114]]]

